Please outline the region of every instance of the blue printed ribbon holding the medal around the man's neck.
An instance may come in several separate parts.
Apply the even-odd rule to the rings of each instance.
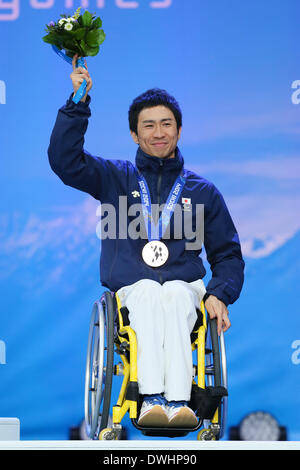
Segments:
[[[160,240],[163,237],[163,234],[166,231],[167,226],[173,215],[175,206],[180,198],[180,194],[185,185],[186,178],[184,177],[184,172],[182,171],[177,177],[170,194],[168,196],[167,202],[164,206],[164,209],[159,218],[158,224],[154,224],[151,208],[151,198],[150,191],[147,185],[147,182],[144,176],[136,169],[137,179],[141,190],[141,202],[143,208],[143,216],[145,220],[146,230],[148,240]]]

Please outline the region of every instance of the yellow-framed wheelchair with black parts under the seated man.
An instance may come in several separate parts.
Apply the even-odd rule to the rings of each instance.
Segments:
[[[191,333],[194,374],[189,406],[198,424],[193,428],[145,427],[138,424],[143,397],[137,379],[137,341],[126,307],[116,293],[105,291],[92,309],[86,356],[84,419],[91,440],[119,440],[122,419],[129,413],[135,428],[146,436],[181,437],[199,431],[197,440],[219,440],[227,420],[227,367],[224,334],[218,336],[203,302]],[[118,356],[121,362],[117,362]],[[112,407],[114,376],[123,376],[117,403]]]

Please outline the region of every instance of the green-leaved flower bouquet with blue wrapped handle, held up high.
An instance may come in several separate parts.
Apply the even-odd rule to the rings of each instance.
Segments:
[[[96,18],[96,15],[92,15],[87,10],[81,15],[80,10],[81,7],[73,16],[60,15],[61,19],[57,23],[51,21],[46,25],[47,34],[43,37],[43,41],[51,44],[53,50],[70,64],[74,55],[78,54],[80,58],[76,65],[85,68],[83,57],[98,54],[100,45],[105,40],[105,33],[101,29],[101,18]],[[78,103],[84,96],[85,90],[86,81],[84,80],[73,98],[75,103]]]

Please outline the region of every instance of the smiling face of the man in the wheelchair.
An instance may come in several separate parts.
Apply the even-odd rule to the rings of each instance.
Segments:
[[[133,140],[145,153],[159,158],[175,156],[180,134],[174,114],[162,105],[144,108],[139,114],[137,134],[131,132]]]

